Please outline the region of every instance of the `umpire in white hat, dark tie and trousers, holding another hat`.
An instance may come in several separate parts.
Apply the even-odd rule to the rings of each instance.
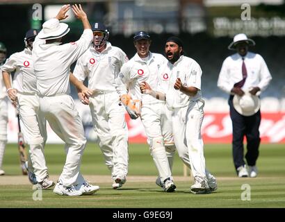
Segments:
[[[238,177],[257,176],[259,156],[259,126],[261,122],[259,94],[268,87],[272,76],[266,62],[256,53],[248,51],[254,40],[243,33],[234,36],[229,50],[236,50],[225,59],[218,78],[218,87],[229,96],[229,112],[233,126],[232,151]],[[245,164],[243,138],[247,139]],[[248,167],[247,167],[248,166]]]

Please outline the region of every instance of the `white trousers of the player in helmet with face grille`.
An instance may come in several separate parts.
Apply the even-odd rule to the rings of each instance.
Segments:
[[[99,147],[112,179],[127,176],[129,167],[128,128],[124,106],[117,92],[95,92],[89,100],[90,112]]]

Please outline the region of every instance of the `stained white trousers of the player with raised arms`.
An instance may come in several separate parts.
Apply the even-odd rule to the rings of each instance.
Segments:
[[[79,171],[86,137],[72,97],[67,94],[40,97],[40,111],[54,133],[65,142],[67,156],[59,178],[60,183],[69,187],[83,182]]]

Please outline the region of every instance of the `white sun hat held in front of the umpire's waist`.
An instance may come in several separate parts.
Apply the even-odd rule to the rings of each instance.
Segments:
[[[234,109],[243,116],[249,117],[257,113],[260,109],[260,99],[257,95],[245,92],[243,96],[234,95]]]

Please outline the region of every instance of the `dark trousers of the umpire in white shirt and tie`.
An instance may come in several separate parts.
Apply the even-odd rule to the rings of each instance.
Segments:
[[[259,156],[259,126],[261,121],[260,110],[250,117],[239,114],[233,105],[234,96],[229,96],[229,114],[233,126],[233,157],[236,169],[245,164],[254,166]],[[243,158],[243,138],[247,139],[247,152]]]

